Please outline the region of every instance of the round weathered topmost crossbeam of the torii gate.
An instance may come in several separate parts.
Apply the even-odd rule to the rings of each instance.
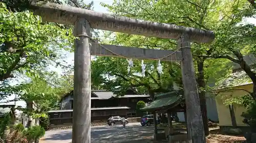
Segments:
[[[92,28],[99,30],[165,39],[178,39],[182,34],[188,34],[191,41],[198,43],[210,43],[215,38],[212,31],[115,16],[47,2],[33,4],[32,10],[34,14],[40,15],[44,21],[62,24],[74,24],[78,17],[82,17],[89,21]]]

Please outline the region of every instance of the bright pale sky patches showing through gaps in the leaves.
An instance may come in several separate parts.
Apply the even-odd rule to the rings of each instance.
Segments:
[[[89,3],[91,1],[84,1],[84,2]],[[112,2],[113,2],[112,0],[103,0],[103,1],[95,0],[94,1],[94,11],[108,13],[108,10],[106,8],[100,6],[100,3],[105,3],[105,4],[111,5]],[[246,22],[256,24],[255,18],[246,19]],[[66,54],[67,58],[65,59],[65,61],[68,63],[67,65],[73,65],[74,53],[63,51],[63,54]],[[58,73],[62,73],[62,69],[60,67],[58,67],[58,68],[50,67],[50,70],[54,70],[54,71],[57,71]],[[23,79],[20,79],[20,80],[23,80]],[[17,81],[15,81],[14,83],[17,83]],[[11,96],[8,100],[12,100],[14,98],[15,98],[15,96]],[[24,101],[17,101],[16,105],[25,107],[26,103]]]

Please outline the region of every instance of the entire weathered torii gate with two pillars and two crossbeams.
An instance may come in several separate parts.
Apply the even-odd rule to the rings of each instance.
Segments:
[[[90,44],[90,28],[135,35],[176,39],[178,51],[166,58],[167,61],[179,61],[182,68],[188,136],[194,143],[204,143],[204,128],[198,97],[193,56],[190,42],[210,43],[215,35],[190,27],[144,21],[112,14],[100,13],[65,5],[40,2],[32,5],[31,10],[44,21],[62,24],[74,24],[75,71],[74,71],[74,110],[73,143],[91,142],[91,54],[117,56],[98,44]],[[173,53],[171,50],[156,50],[115,45],[103,45],[119,55],[134,59],[159,59]]]

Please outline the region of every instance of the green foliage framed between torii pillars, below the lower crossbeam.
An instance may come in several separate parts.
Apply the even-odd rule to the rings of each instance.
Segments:
[[[100,84],[104,89],[111,90],[117,95],[133,87],[141,94],[163,93],[173,90],[173,82],[181,82],[180,70],[172,63],[162,63],[163,74],[156,70],[157,61],[144,61],[146,64],[145,76],[141,76],[141,61],[135,60],[131,72],[127,73],[127,61],[120,58],[98,57],[92,61],[92,82]],[[95,72],[94,72],[95,71]],[[117,90],[119,89],[119,90]],[[152,96],[153,95],[153,96]]]

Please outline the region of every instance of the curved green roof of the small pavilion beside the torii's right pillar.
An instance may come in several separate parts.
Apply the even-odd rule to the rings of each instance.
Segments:
[[[180,91],[156,95],[155,101],[141,108],[143,111],[164,110],[177,106],[183,99]]]

